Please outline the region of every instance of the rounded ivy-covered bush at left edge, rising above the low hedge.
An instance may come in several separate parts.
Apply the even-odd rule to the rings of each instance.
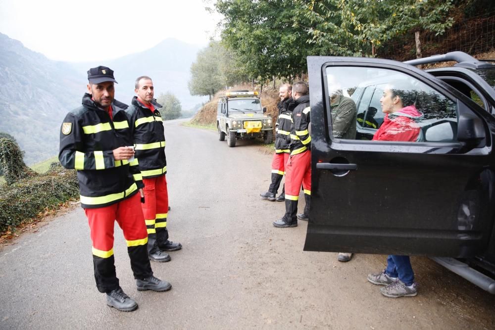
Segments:
[[[24,164],[19,145],[10,139],[0,139],[0,167],[3,169],[3,178],[7,185],[36,176],[36,173]]]

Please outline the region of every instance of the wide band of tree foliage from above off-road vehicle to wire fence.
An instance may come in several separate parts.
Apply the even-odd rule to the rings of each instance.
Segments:
[[[369,56],[405,33],[442,34],[452,1],[218,0],[215,8],[223,42],[251,78],[265,80],[306,72],[307,55]]]

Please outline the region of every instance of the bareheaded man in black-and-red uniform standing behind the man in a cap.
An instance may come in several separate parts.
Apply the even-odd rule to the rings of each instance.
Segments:
[[[141,76],[136,79],[137,94],[126,112],[131,123],[131,135],[136,150],[136,164],[145,184],[145,203],[142,204],[148,230],[149,260],[169,261],[170,255],[164,251],[176,251],[181,243],[168,240],[168,191],[167,160],[165,157],[165,134],[160,112],[161,105],[153,98],[154,87],[151,78]]]

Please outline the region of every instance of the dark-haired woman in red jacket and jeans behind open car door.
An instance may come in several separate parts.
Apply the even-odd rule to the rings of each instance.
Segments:
[[[387,85],[380,98],[385,118],[373,141],[422,141],[423,134],[417,122],[423,114],[416,109],[415,101],[416,93],[412,86],[402,81]],[[385,285],[380,291],[386,297],[413,297],[418,294],[409,256],[389,255],[387,268],[368,274],[368,281]]]

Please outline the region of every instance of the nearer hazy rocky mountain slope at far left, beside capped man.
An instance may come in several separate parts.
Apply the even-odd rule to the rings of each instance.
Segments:
[[[0,34],[0,131],[15,137],[25,162],[58,151],[58,128],[79,103],[84,76]]]

